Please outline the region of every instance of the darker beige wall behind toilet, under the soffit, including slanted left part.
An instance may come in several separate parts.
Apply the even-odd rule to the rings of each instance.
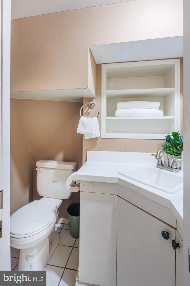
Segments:
[[[11,100],[11,209],[39,199],[35,163],[41,159],[74,161],[82,165],[82,135],[76,133],[82,103]],[[34,184],[33,184],[34,180]],[[34,189],[34,190],[33,190]],[[79,201],[73,193],[59,209]]]

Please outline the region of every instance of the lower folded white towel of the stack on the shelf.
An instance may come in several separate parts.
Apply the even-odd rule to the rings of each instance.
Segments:
[[[164,113],[159,109],[151,108],[123,108],[116,109],[115,116],[163,116]]]

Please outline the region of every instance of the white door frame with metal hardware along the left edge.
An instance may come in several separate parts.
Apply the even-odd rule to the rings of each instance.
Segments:
[[[1,107],[2,107],[2,238],[0,270],[10,270],[10,12],[11,0],[1,0]],[[0,152],[1,153],[1,152]]]

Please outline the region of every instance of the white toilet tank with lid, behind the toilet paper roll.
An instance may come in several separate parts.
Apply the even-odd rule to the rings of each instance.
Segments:
[[[42,197],[68,199],[72,192],[66,188],[66,179],[76,171],[77,163],[40,160],[36,162],[37,191]]]

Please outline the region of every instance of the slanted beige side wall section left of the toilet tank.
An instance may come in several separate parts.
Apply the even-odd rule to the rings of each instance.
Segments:
[[[24,120],[25,121],[25,120]],[[10,213],[26,205],[33,197],[33,160],[31,147],[17,120],[17,110],[11,100],[11,162]]]

